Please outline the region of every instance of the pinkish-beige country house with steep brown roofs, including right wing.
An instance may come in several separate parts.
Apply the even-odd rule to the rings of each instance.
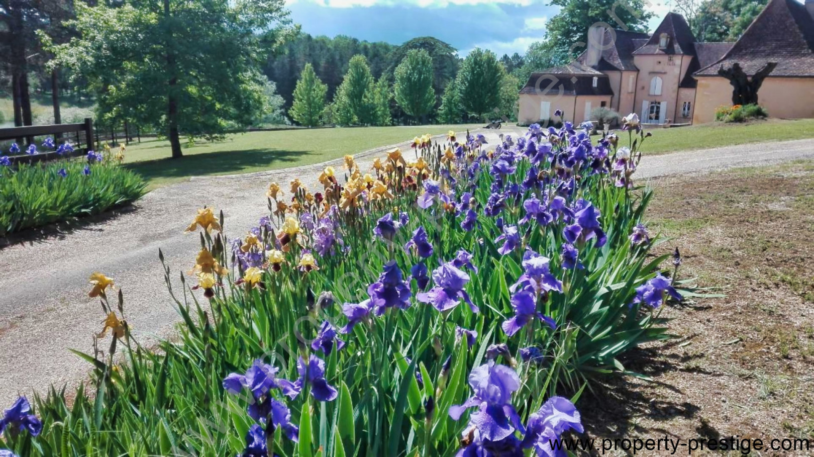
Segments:
[[[721,64],[741,61],[751,75],[784,58],[786,64],[764,81],[761,104],[772,116],[814,117],[811,11],[814,0],[806,6],[771,0],[734,43],[696,41],[684,17],[673,12],[652,34],[592,28],[578,59],[532,74],[520,90],[518,120],[545,121],[561,109],[566,121],[579,123],[606,106],[622,116],[635,112],[646,124],[708,122],[717,107],[732,104],[729,81],[717,74]]]

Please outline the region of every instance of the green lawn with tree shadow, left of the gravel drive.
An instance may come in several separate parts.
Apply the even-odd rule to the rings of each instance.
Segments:
[[[463,133],[483,125],[424,125],[346,129],[279,130],[231,135],[222,142],[199,142],[183,148],[182,159],[170,159],[166,140],[130,143],[125,166],[147,179],[148,188],[190,176],[242,174],[311,165],[374,147],[408,141],[422,134]]]

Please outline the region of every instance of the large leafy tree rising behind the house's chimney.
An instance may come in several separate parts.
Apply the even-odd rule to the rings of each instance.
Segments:
[[[606,23],[617,29],[646,32],[653,17],[653,13],[645,9],[645,0],[550,0],[550,4],[560,9],[545,24],[545,42],[555,57],[562,56],[563,61],[558,64],[585,51],[588,29],[593,24]]]

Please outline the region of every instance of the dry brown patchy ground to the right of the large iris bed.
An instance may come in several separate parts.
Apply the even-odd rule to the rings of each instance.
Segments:
[[[657,252],[679,247],[680,278],[725,297],[663,310],[676,337],[623,361],[652,382],[628,376],[596,389],[582,411],[589,435],[807,438],[811,450],[751,455],[814,455],[814,160],[651,186],[650,232],[670,238]]]

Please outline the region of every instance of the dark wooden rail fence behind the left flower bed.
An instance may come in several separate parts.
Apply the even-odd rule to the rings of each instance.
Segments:
[[[85,122],[81,124],[31,125],[28,127],[0,129],[0,143],[3,140],[14,140],[20,147],[18,155],[9,156],[12,164],[32,164],[64,157],[64,155],[59,156],[53,151],[39,152],[33,155],[25,153],[25,149],[29,144],[36,144],[35,137],[42,138],[45,136],[54,138],[55,147],[59,147],[59,144],[65,141],[70,142],[73,147],[71,156],[85,155],[94,148],[94,121],[90,117],[86,117]]]

